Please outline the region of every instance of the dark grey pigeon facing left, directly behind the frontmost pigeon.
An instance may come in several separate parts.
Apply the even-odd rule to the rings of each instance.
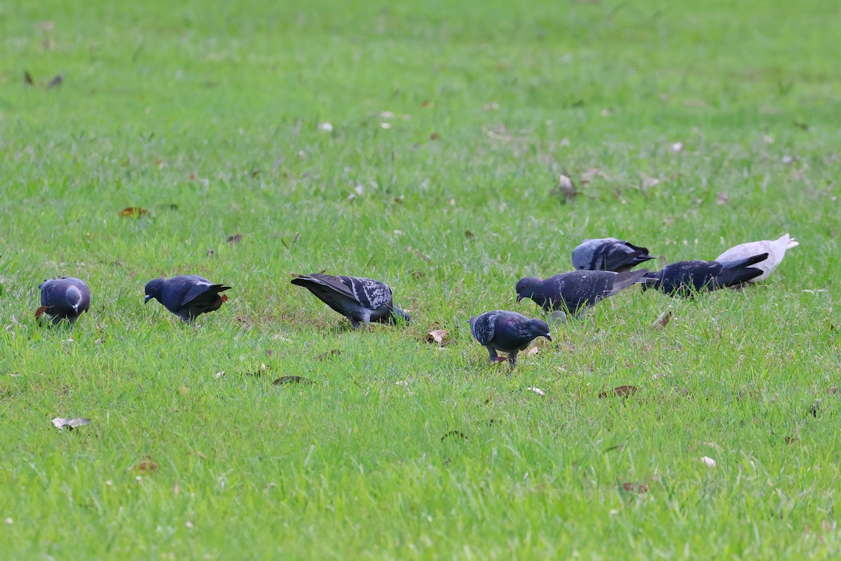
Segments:
[[[544,311],[561,310],[578,315],[600,299],[612,296],[633,283],[643,282],[647,274],[648,269],[626,273],[573,271],[546,280],[537,277],[521,278],[516,285],[517,302],[531,298]]]

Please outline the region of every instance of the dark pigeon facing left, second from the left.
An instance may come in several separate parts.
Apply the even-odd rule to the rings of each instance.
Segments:
[[[154,298],[183,321],[193,321],[199,315],[219,310],[228,299],[220,292],[229,288],[225,284],[211,283],[198,275],[156,278],[146,283],[144,304]]]

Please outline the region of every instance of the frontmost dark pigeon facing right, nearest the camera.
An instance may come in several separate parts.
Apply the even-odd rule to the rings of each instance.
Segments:
[[[491,364],[507,360],[511,368],[517,364],[517,354],[537,337],[546,337],[552,341],[545,321],[530,320],[525,315],[504,310],[485,312],[470,318],[470,332],[476,341],[488,349]],[[508,358],[498,357],[497,351],[507,352]]]

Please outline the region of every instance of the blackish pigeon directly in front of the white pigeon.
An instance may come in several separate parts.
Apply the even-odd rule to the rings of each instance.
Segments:
[[[738,287],[762,274],[751,267],[768,258],[767,253],[735,261],[679,261],[666,265],[657,273],[648,273],[643,288],[652,286],[669,296],[690,297],[702,290]]]

